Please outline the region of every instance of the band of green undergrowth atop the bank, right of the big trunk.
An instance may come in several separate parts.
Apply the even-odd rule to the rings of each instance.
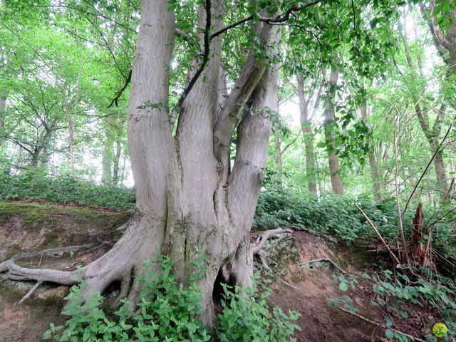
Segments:
[[[366,249],[368,244],[379,244],[374,230],[355,204],[363,209],[386,241],[395,241],[398,237],[399,217],[394,198],[374,202],[367,197],[326,194],[318,199],[311,194],[269,189],[262,191],[259,196],[254,229],[294,227],[312,234],[337,237],[346,244],[361,249]],[[442,267],[445,267],[447,273],[454,273],[455,269],[452,266],[456,264],[454,206],[451,203],[442,208],[423,206],[423,211],[425,214],[423,242],[426,242],[426,232],[432,224],[434,232],[432,247],[436,253],[436,259]],[[410,241],[414,216],[415,207],[411,204],[403,216],[403,227],[408,241]]]

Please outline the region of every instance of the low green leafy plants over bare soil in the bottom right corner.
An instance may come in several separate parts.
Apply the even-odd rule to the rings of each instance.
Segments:
[[[454,281],[438,274],[429,274],[427,270],[409,269],[393,272],[388,269],[373,274],[358,274],[358,278],[368,281],[375,293],[371,304],[380,307],[385,324],[385,337],[394,341],[410,341],[407,336],[395,330],[394,322],[400,319],[410,319],[415,310],[414,306],[424,308],[435,321],[427,321],[427,330],[430,331],[435,323],[445,323],[448,328],[445,341],[456,341],[456,285]],[[409,275],[408,275],[409,274]],[[413,279],[410,279],[412,277]],[[353,289],[357,284],[355,276],[350,280],[344,277],[334,277],[339,283],[341,291],[347,291],[348,286]],[[329,299],[330,306],[343,306],[356,313],[349,296]],[[428,333],[429,335],[430,333]],[[429,341],[437,341],[430,336]]]

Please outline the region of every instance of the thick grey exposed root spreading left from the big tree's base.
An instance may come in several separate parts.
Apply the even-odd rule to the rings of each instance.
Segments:
[[[114,244],[108,252],[98,259],[77,271],[61,271],[55,269],[29,269],[19,266],[16,261],[29,257],[43,255],[56,255],[64,252],[72,252],[78,249],[88,249],[90,245],[47,249],[40,252],[17,254],[11,259],[0,264],[0,276],[2,279],[21,281],[49,281],[56,284],[72,286],[84,282],[81,288],[81,296],[87,299],[93,292],[104,293],[112,284],[118,282],[120,291],[115,299],[115,306],[119,306],[120,299],[127,298],[133,305],[138,302],[140,284],[132,281],[132,271],[141,272],[140,264],[147,259],[154,259],[155,253],[162,246],[164,234],[163,223],[158,219],[145,219],[137,217],[130,225],[123,237]],[[151,229],[157,227],[157,230]],[[98,249],[98,247],[95,247]],[[93,249],[92,249],[93,251]],[[142,270],[143,271],[143,270]],[[28,294],[30,296],[33,291]],[[67,304],[68,305],[68,304]]]

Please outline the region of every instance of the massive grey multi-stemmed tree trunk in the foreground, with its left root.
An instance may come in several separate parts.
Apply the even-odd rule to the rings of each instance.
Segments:
[[[223,4],[223,0],[212,4],[212,23],[207,23],[207,11],[200,6],[198,26],[221,28]],[[167,101],[175,16],[168,7],[166,0],[142,0],[141,4],[128,105],[137,210],[123,237],[83,273],[24,269],[13,261],[0,264],[0,272],[9,269],[28,279],[61,284],[84,280],[84,296],[120,281],[118,300],[126,296],[135,304],[142,261],[153,261],[158,252],[169,255],[175,274],[185,283],[192,274],[192,262],[204,251],[206,271],[199,281],[202,321],[211,325],[213,296],[217,296],[214,284],[252,281],[253,255],[259,247],[251,247],[249,232],[264,178],[271,131],[268,108],[276,104],[278,71],[274,65],[266,68],[266,60],[259,60],[252,48],[231,93],[217,110],[222,38],[213,38],[210,65],[181,103],[173,136]],[[261,46],[279,39],[276,26],[257,24],[255,30]],[[251,110],[244,110],[247,102]],[[230,170],[234,130],[237,149]]]

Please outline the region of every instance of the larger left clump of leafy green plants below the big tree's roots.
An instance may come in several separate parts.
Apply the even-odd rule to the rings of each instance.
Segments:
[[[63,312],[70,318],[64,326],[54,326],[44,333],[43,339],[55,341],[209,341],[207,328],[197,320],[201,314],[201,291],[196,281],[202,277],[201,262],[194,264],[195,272],[188,286],[179,284],[172,274],[169,257],[159,255],[160,271],[152,269],[146,261],[142,284],[139,314],[131,311],[131,304],[123,301],[114,316],[100,309],[103,296],[90,294],[87,300],[81,296],[81,286],[73,286],[66,299],[70,304]],[[132,319],[133,317],[133,319]]]

